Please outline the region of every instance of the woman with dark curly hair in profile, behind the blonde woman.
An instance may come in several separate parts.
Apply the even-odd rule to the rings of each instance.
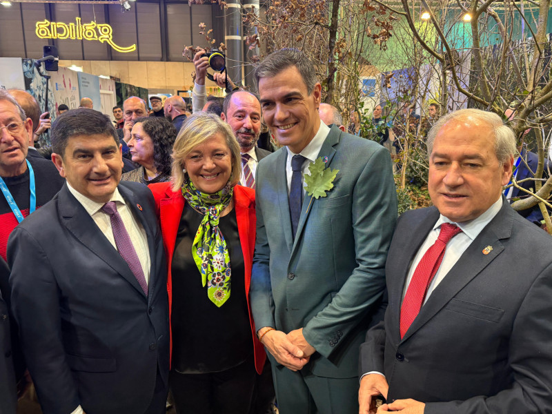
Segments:
[[[132,161],[140,167],[125,172],[121,179],[142,184],[170,180],[170,152],[177,130],[164,118],[141,117],[134,121],[132,137],[127,145]]]

